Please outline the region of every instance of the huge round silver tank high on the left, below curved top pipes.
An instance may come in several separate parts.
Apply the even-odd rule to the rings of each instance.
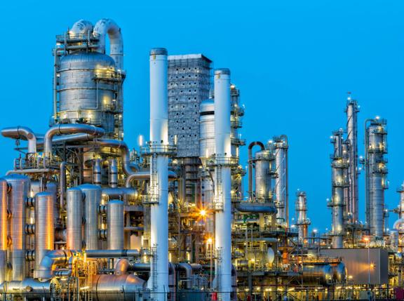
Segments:
[[[115,62],[97,52],[76,52],[60,58],[59,116],[62,121],[93,124],[114,133]]]

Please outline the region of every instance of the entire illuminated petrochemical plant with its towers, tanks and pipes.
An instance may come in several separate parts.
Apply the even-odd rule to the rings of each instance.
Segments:
[[[152,49],[149,141],[132,149],[123,141],[119,26],[79,20],[56,36],[53,55],[48,131],[1,131],[18,140],[18,156],[0,178],[0,300],[403,294],[404,185],[389,230],[386,120],[366,121],[358,156],[351,95],[346,126],[331,136],[332,229],[320,234],[309,230],[307,194],[288,189],[288,137],[241,139],[245,110],[229,69],[213,70],[201,54]],[[239,161],[245,145],[248,168]]]

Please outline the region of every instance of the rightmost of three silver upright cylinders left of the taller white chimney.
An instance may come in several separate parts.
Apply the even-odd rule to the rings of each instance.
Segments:
[[[123,201],[107,203],[107,227],[108,250],[123,249]]]

